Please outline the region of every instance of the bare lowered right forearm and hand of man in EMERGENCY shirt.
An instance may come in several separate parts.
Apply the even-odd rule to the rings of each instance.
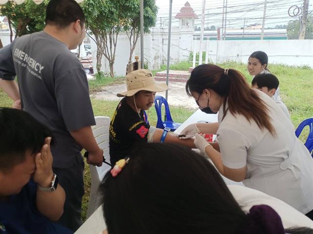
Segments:
[[[79,130],[71,131],[70,135],[89,152],[87,162],[100,167],[102,165],[103,150],[99,148],[95,141],[91,127],[86,126]]]

